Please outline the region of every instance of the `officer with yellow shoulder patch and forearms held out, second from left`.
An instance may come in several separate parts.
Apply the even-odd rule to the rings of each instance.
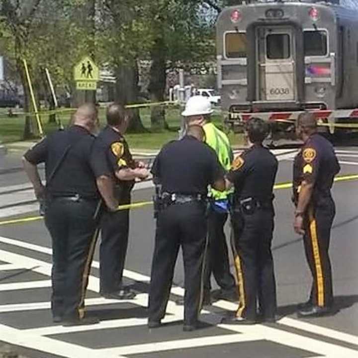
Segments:
[[[93,160],[100,163],[95,172],[97,180],[110,180],[106,187],[114,190],[119,205],[130,204],[135,179],[149,175],[143,163],[132,159],[123,137],[129,115],[120,104],[107,108],[107,126],[100,132],[93,146]],[[99,251],[100,294],[112,299],[132,299],[135,293],[122,286],[123,269],[128,246],[129,209],[103,211],[100,223],[101,244]]]

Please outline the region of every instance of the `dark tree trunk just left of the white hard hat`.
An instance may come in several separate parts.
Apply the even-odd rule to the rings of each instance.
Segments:
[[[150,68],[149,93],[152,102],[164,101],[164,92],[167,83],[165,43],[162,37],[158,37],[152,50],[152,66]],[[169,129],[165,118],[163,106],[151,108],[151,128],[153,130]]]

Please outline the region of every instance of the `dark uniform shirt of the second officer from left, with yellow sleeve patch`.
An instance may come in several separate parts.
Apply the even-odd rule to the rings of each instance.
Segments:
[[[96,166],[96,178],[105,175],[114,179],[122,196],[128,194],[134,185],[134,180],[121,181],[115,177],[115,172],[123,168],[135,168],[135,162],[129,151],[124,137],[110,126],[106,126],[94,141],[92,161]],[[118,190],[117,190],[118,192]],[[117,195],[117,196],[118,196]]]

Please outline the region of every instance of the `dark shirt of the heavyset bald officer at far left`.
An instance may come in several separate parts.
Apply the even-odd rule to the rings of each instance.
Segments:
[[[74,125],[47,136],[29,149],[24,157],[35,165],[45,163],[47,191],[52,195],[79,194],[97,198],[99,195],[93,174],[96,168],[95,163],[90,161],[93,142],[94,136],[88,130]]]

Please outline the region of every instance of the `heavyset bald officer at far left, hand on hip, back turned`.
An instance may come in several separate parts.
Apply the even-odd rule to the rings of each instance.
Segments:
[[[23,157],[36,197],[46,199],[45,224],[53,250],[51,309],[53,321],[66,326],[98,322],[84,311],[98,224],[96,168],[90,161],[96,122],[96,108],[85,104],[76,111],[73,126],[48,136]],[[45,163],[46,187],[39,163]],[[105,200],[115,205],[113,197]]]

